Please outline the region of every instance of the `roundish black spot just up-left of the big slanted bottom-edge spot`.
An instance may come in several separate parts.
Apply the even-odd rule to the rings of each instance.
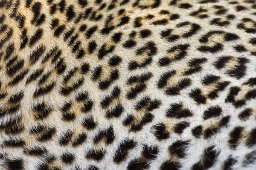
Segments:
[[[169,147],[169,152],[172,154],[177,155],[180,158],[186,156],[186,149],[189,147],[189,141],[175,141]]]

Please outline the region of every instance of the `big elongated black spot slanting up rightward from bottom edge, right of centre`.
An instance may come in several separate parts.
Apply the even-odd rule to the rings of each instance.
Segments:
[[[201,161],[198,161],[192,166],[192,170],[204,170],[212,167],[218,158],[218,152],[214,150],[215,147],[208,147],[204,150]]]

